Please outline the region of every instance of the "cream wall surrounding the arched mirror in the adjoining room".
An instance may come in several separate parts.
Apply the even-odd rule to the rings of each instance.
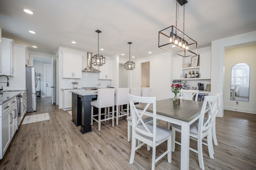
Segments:
[[[233,47],[225,50],[224,65],[225,65],[225,79],[224,91],[230,91],[231,87],[231,69],[236,63],[246,63],[250,66],[250,89],[249,102],[230,100],[230,93],[224,93],[224,109],[232,111],[241,111],[246,113],[256,113],[256,44],[246,45],[242,47]]]

